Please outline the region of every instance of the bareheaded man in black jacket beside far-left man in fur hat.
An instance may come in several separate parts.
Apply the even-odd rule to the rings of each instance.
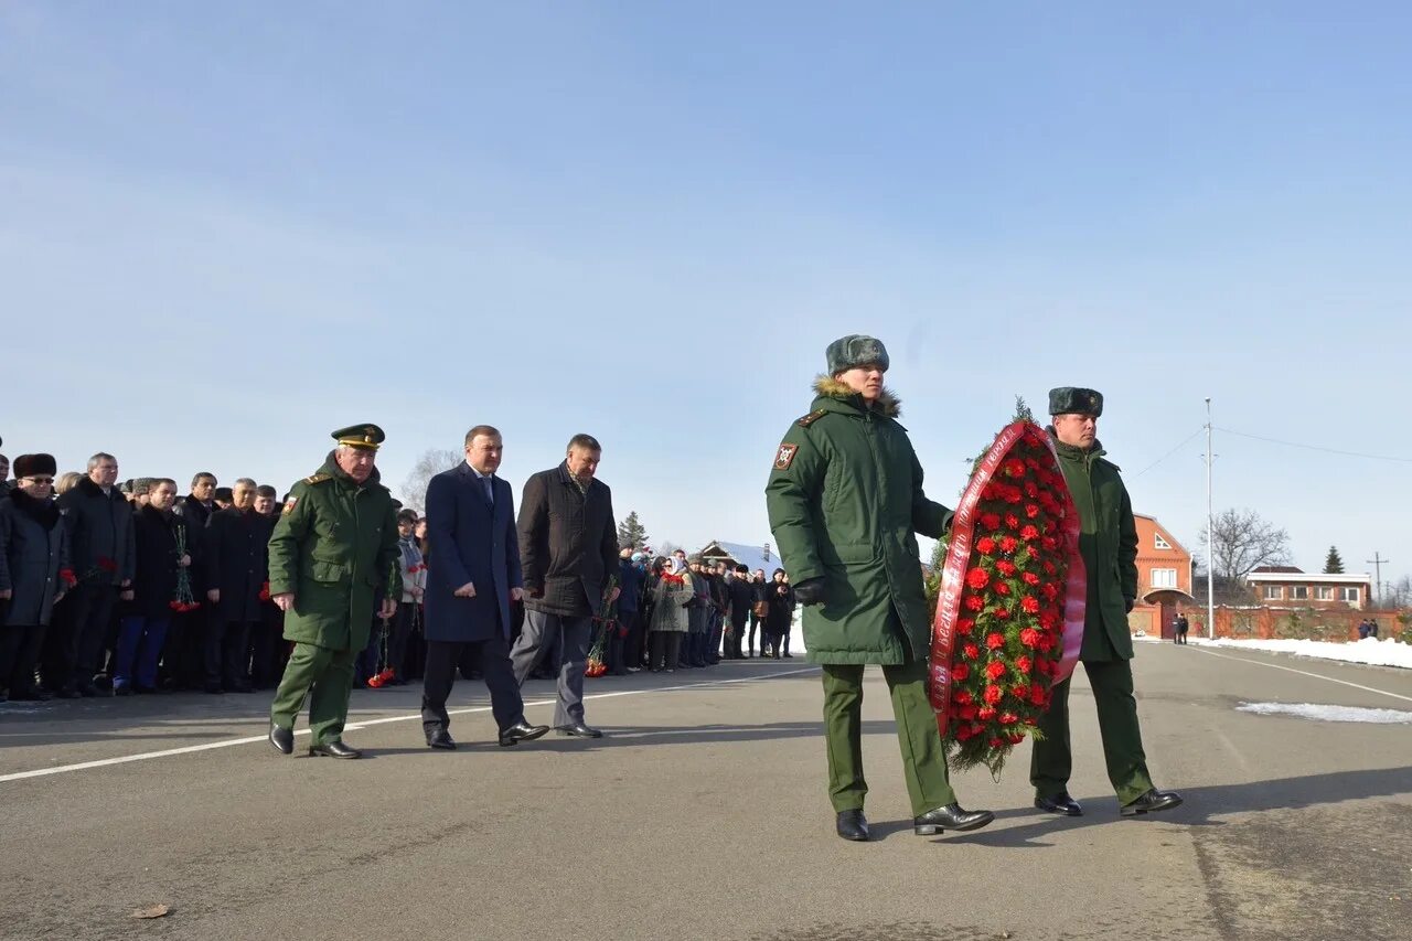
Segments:
[[[44,682],[62,698],[99,695],[93,675],[114,605],[133,600],[133,509],[114,483],[117,458],[96,454],[89,458],[88,476],[58,499],[79,578],[44,644]]]

